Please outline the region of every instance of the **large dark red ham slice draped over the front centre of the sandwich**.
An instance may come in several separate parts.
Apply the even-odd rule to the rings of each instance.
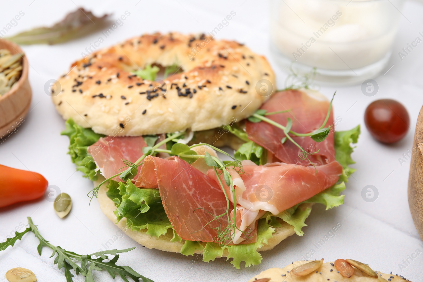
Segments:
[[[147,156],[135,185],[159,188],[165,212],[182,239],[213,242],[217,238],[216,228],[223,230],[228,226],[226,216],[209,223],[214,219],[211,214],[226,211],[225,194],[219,184],[176,156],[168,159]]]

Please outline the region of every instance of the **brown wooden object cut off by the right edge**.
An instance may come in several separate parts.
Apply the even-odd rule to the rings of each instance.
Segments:
[[[408,178],[408,204],[414,224],[420,238],[423,239],[423,107],[417,119],[414,135]]]

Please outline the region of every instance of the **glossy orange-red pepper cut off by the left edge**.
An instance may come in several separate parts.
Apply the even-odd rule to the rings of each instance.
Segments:
[[[0,208],[38,199],[49,185],[43,175],[0,164]]]

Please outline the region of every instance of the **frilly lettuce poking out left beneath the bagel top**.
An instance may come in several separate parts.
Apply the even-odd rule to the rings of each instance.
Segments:
[[[66,120],[66,129],[60,134],[69,137],[69,152],[71,160],[77,166],[77,170],[81,171],[84,177],[91,181],[97,180],[100,171],[96,170],[97,166],[94,159],[87,153],[88,146],[97,142],[102,134],[97,134],[89,128],[83,128],[77,125],[73,119]]]

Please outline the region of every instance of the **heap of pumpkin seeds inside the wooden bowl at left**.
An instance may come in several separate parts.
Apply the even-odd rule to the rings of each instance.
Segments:
[[[8,49],[0,49],[0,95],[8,92],[21,77],[22,56],[11,55]]]

